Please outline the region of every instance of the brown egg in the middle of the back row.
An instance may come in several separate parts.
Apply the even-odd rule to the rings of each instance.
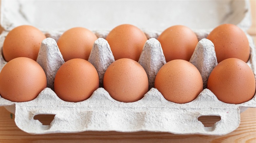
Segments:
[[[130,58],[138,61],[147,37],[138,27],[123,24],[110,31],[106,40],[115,60]]]

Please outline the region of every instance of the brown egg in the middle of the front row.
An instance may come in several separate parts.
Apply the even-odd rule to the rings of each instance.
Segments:
[[[147,73],[132,59],[118,59],[106,70],[103,87],[117,101],[136,102],[148,91]]]

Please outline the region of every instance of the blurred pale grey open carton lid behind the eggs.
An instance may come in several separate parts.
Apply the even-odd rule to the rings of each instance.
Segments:
[[[142,30],[164,30],[172,25],[212,29],[251,25],[249,1],[1,1],[1,26],[10,31],[33,25],[43,31],[72,27],[111,30],[133,24]]]

